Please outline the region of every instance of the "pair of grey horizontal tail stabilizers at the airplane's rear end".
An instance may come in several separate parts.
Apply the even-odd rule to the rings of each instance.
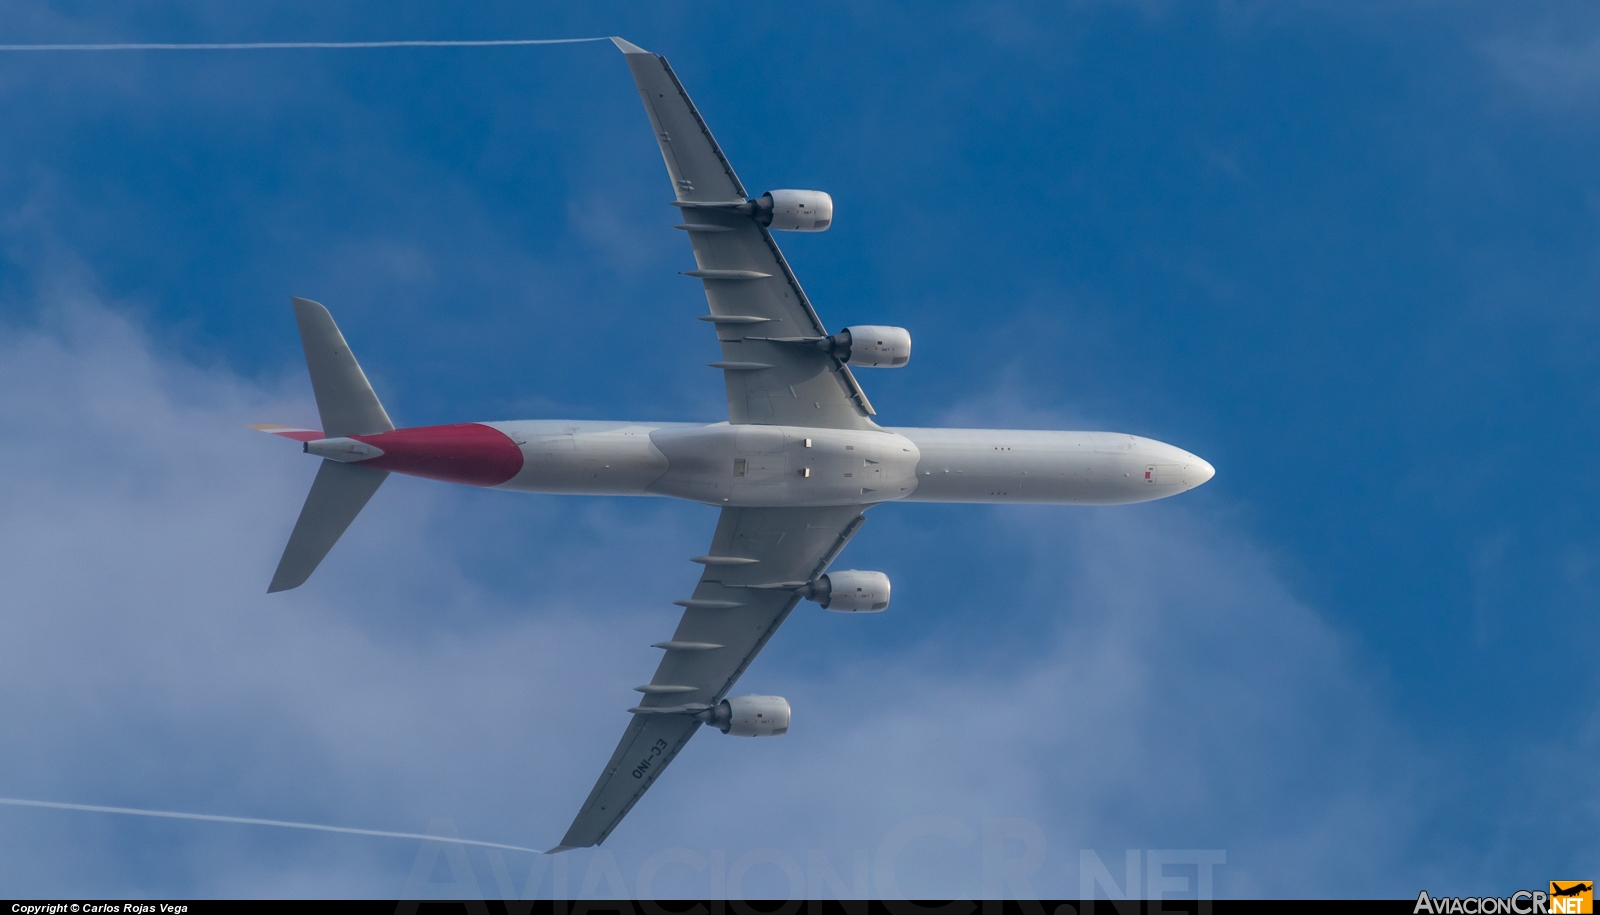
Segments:
[[[394,422],[382,403],[378,403],[366,373],[355,362],[350,344],[344,342],[328,309],[310,299],[294,299],[294,320],[306,347],[306,366],[310,370],[310,387],[322,414],[322,432],[280,426],[256,429],[299,442],[390,432]],[[306,584],[387,477],[387,470],[376,467],[325,459],[306,496],[306,505],[301,507],[301,517],[294,521],[290,544],[283,547],[283,558],[278,560],[278,571],[274,573],[267,593]]]

